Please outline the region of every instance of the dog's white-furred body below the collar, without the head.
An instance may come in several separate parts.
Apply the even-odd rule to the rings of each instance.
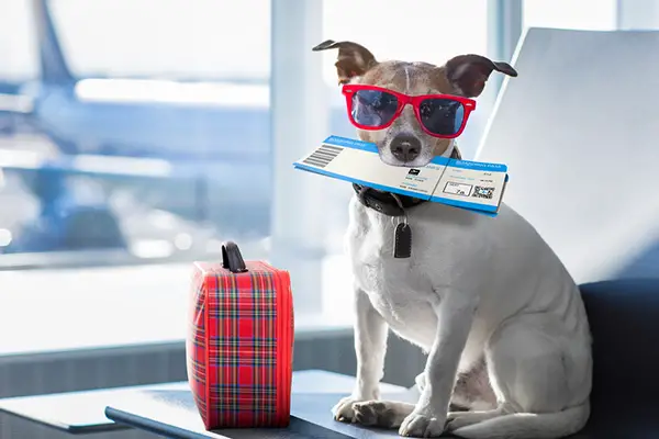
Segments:
[[[579,290],[549,246],[505,204],[489,217],[425,203],[407,218],[412,257],[394,259],[396,221],[350,203],[357,385],[335,417],[359,421],[370,407],[382,419],[366,424],[414,437],[552,439],[581,429],[590,414],[590,329]],[[415,405],[368,403],[379,398],[388,328],[428,352]],[[449,414],[457,373],[482,356],[498,404]]]

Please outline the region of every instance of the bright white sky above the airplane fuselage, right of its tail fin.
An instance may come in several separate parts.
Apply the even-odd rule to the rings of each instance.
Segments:
[[[268,0],[51,3],[64,52],[79,76],[268,79]]]

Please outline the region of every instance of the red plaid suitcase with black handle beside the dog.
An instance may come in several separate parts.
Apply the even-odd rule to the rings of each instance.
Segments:
[[[206,429],[286,427],[290,419],[293,304],[290,275],[244,262],[196,262],[186,342],[188,381]]]

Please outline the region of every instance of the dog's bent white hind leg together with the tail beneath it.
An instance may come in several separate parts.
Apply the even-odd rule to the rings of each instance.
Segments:
[[[540,318],[517,317],[492,335],[485,349],[488,367],[505,408],[480,418],[454,416],[455,436],[556,439],[585,425],[591,380],[588,328],[577,323],[568,330],[554,316]]]

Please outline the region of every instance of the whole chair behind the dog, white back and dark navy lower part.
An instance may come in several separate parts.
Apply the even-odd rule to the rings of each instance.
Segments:
[[[580,284],[592,413],[574,438],[659,437],[659,32],[530,29],[476,159]]]

